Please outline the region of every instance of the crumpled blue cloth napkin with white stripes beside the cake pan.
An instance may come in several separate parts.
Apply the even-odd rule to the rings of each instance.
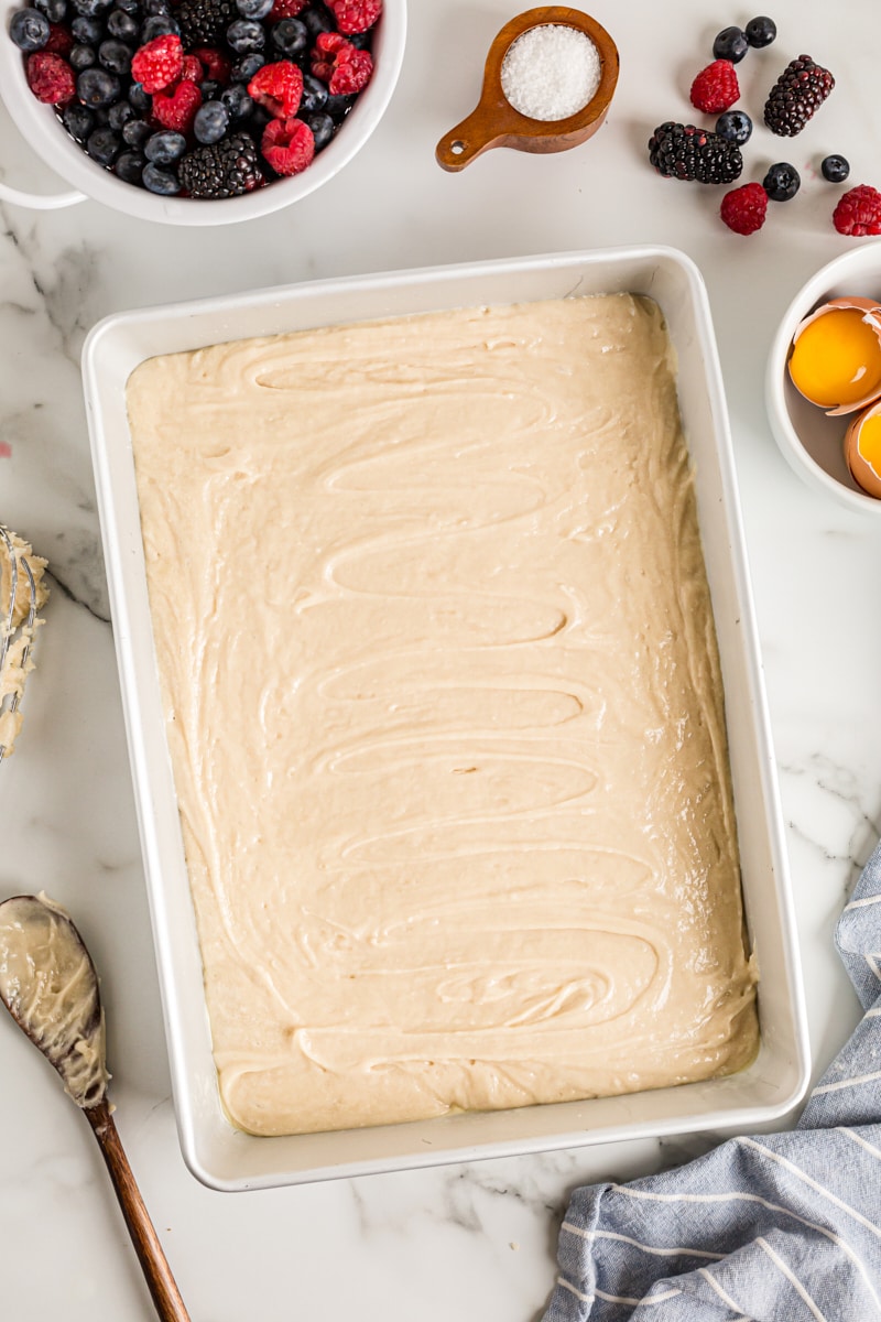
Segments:
[[[881,845],[836,944],[865,1015],[796,1129],[576,1190],[544,1322],[881,1318]]]

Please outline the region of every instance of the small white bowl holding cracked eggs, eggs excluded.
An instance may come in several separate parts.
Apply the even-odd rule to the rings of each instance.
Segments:
[[[881,500],[857,486],[844,460],[844,432],[851,418],[828,418],[823,408],[804,399],[786,366],[800,321],[829,299],[857,293],[881,301],[880,241],[863,243],[835,258],[802,286],[774,336],[765,399],[774,439],[799,477],[845,509],[881,518]]]

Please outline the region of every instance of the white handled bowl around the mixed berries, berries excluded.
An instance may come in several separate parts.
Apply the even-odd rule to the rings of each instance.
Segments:
[[[133,184],[124,184],[111,171],[86,156],[70,137],[52,106],[41,104],[28,87],[21,52],[9,38],[9,20],[24,0],[0,0],[0,95],[28,143],[74,192],[38,196],[0,184],[0,200],[49,209],[69,206],[91,197],[118,212],[165,225],[230,225],[268,215],[297,202],[326,184],[367,141],[382,119],[398,82],[407,36],[407,0],[384,0],[374,40],[374,74],[358,97],[339,132],[301,175],[275,180],[242,197],[201,201],[160,197]]]

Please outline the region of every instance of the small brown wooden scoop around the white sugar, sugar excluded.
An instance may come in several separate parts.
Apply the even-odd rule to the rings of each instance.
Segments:
[[[559,24],[589,37],[600,56],[600,86],[586,106],[565,119],[530,119],[514,110],[502,91],[502,63],[509,48],[530,28]],[[520,152],[564,152],[585,143],[602,124],[618,81],[618,48],[596,19],[567,5],[527,9],[506,22],[493,41],[483,69],[483,90],[477,108],[437,144],[437,164],[446,171],[465,169],[490,147],[514,147]]]

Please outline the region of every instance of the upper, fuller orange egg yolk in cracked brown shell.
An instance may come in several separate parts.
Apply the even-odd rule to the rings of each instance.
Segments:
[[[881,338],[859,308],[829,308],[793,346],[790,375],[815,405],[835,408],[881,394]]]

